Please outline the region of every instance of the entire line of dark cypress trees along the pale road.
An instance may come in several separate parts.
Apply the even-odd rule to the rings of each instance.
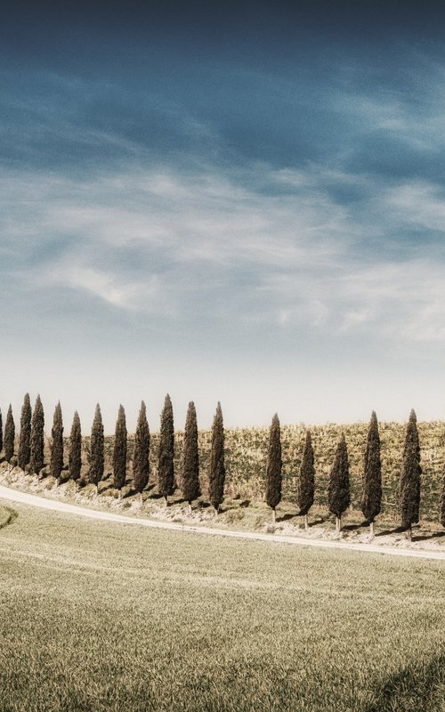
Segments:
[[[4,447],[4,458],[12,461],[14,455],[15,425],[12,407],[9,406],[3,440],[2,415],[0,412],[0,449]],[[150,428],[147,422],[145,403],[142,401],[134,437],[133,481],[134,489],[141,494],[150,479]],[[113,449],[114,486],[119,499],[126,479],[127,429],[125,409],[119,406],[117,414],[115,441]],[[44,467],[44,409],[40,396],[37,395],[34,411],[28,393],[25,395],[20,417],[20,439],[17,452],[17,465],[22,470],[39,473]],[[61,404],[57,404],[53,416],[51,439],[50,473],[55,480],[61,480],[63,461],[63,423]],[[82,433],[80,418],[76,411],[69,437],[69,478],[77,482],[82,468]],[[375,411],[372,412],[368,428],[367,447],[363,466],[363,489],[361,510],[369,523],[371,537],[374,536],[374,522],[380,514],[382,504],[382,465],[380,457],[380,436]],[[104,472],[104,431],[101,408],[96,406],[89,451],[89,481],[98,490]],[[420,444],[417,431],[417,417],[414,410],[409,415],[401,478],[399,482],[399,501],[402,526],[408,530],[410,538],[412,525],[419,521],[420,507]],[[225,461],[223,412],[218,403],[212,428],[212,444],[209,465],[209,499],[215,512],[223,503]],[[197,499],[199,490],[198,425],[194,403],[189,403],[187,411],[184,441],[182,449],[182,467],[179,481],[174,477],[174,414],[170,396],[166,395],[161,414],[160,438],[158,449],[158,492],[166,499],[179,485],[182,496],[189,503]],[[281,500],[282,458],[279,417],[274,415],[271,422],[268,457],[266,465],[265,501],[271,507],[273,521],[276,508]],[[315,465],[311,432],[307,431],[303,457],[298,480],[297,502],[304,525],[308,527],[308,513],[314,501]],[[336,449],[336,456],[331,467],[328,485],[328,507],[336,517],[336,530],[340,531],[342,516],[351,504],[349,479],[349,458],[347,444],[342,435]],[[441,523],[445,526],[445,476],[441,496]]]

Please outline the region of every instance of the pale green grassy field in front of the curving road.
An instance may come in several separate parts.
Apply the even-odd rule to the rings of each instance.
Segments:
[[[0,709],[445,709],[445,566],[16,506]]]

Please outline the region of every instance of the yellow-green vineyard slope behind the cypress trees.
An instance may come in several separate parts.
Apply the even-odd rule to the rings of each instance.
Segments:
[[[401,457],[405,436],[405,425],[381,423],[382,441],[383,513],[397,514],[397,484],[401,473]],[[445,423],[434,421],[419,423],[422,448],[422,500],[421,516],[425,521],[437,521],[441,497],[441,481],[445,473]],[[316,493],[315,505],[325,506],[327,502],[328,475],[334,459],[336,445],[342,432],[346,435],[351,464],[352,507],[360,506],[363,455],[366,447],[368,424],[313,425],[312,442],[315,450]],[[299,472],[305,426],[284,425],[281,429],[283,448],[283,498],[295,501],[296,478]],[[175,435],[176,469],[179,470],[182,452],[182,432]],[[236,428],[226,430],[226,466],[228,496],[235,498],[261,499],[267,453],[269,429]],[[201,484],[206,494],[206,472],[210,452],[210,431],[200,431],[199,451]],[[87,447],[88,439],[85,439]],[[111,469],[113,438],[106,439],[106,464]],[[133,450],[133,438],[129,442],[129,456]],[[158,433],[151,436],[151,467],[156,475]],[[86,468],[85,468],[86,469]]]

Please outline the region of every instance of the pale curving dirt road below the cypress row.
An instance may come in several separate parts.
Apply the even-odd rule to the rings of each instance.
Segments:
[[[378,546],[376,544],[352,544],[345,541],[327,541],[326,539],[307,539],[302,537],[289,537],[280,534],[262,534],[255,531],[234,531],[224,529],[211,529],[210,527],[193,527],[189,524],[174,524],[173,522],[159,522],[154,519],[140,519],[129,517],[125,514],[113,514],[112,512],[100,512],[96,509],[88,509],[85,506],[69,505],[68,502],[61,502],[57,499],[46,499],[37,495],[30,495],[28,492],[12,490],[9,487],[0,485],[0,499],[7,499],[10,502],[20,502],[22,505],[38,506],[42,509],[51,509],[54,512],[66,512],[67,514],[77,514],[90,519],[105,520],[106,522],[117,522],[120,524],[136,524],[140,527],[154,527],[156,529],[169,529],[176,531],[191,531],[194,534],[213,534],[223,537],[234,537],[241,539],[257,539],[260,541],[276,541],[282,544],[293,544],[294,546],[319,546],[323,549],[352,549],[352,551],[366,551],[373,554],[392,554],[394,556],[414,556],[419,559],[439,559],[445,561],[445,552],[401,548],[396,546]]]

